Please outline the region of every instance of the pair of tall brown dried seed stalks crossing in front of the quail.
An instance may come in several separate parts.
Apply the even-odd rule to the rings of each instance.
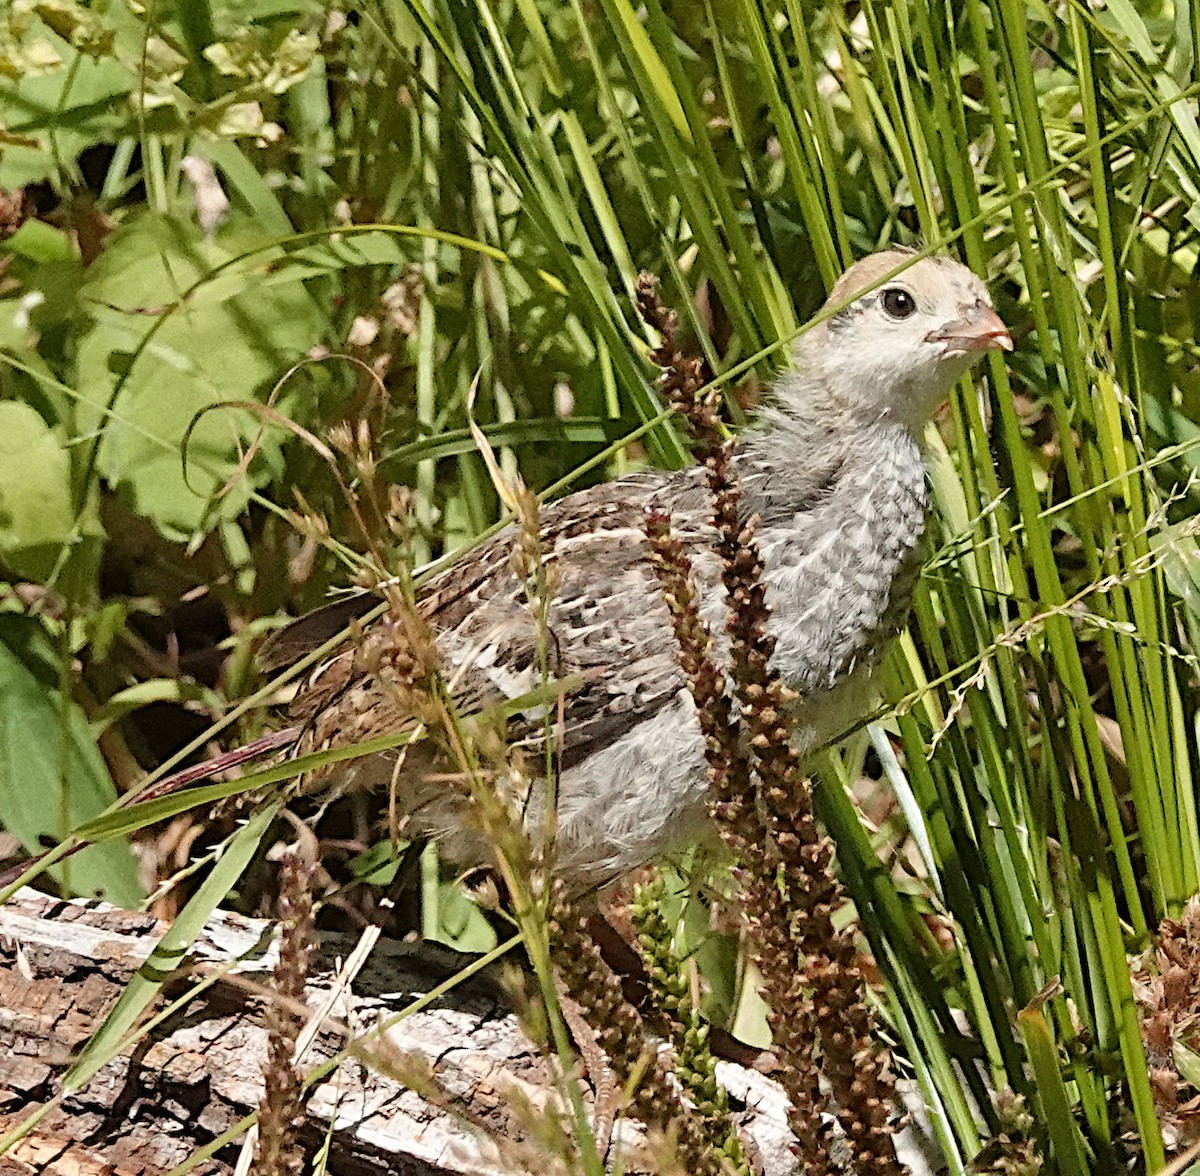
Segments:
[[[742,863],[738,880],[773,1008],[775,1046],[785,1063],[780,1078],[793,1106],[792,1127],[805,1151],[805,1170],[830,1170],[814,1060],[820,1026],[822,1068],[853,1150],[854,1169],[900,1174],[904,1168],[895,1157],[890,1122],[889,1058],[874,1033],[853,937],[833,926],[833,913],[844,901],[832,870],[833,845],[817,828],[811,784],[791,742],[790,706],[796,695],[770,672],[774,640],[767,628],[756,520],[742,517],[734,443],[721,440],[715,390],[704,392],[698,362],[682,356],[676,317],[664,308],[653,278],[642,275],[637,296],[643,317],[662,336],[654,353],[667,367],[661,388],[691,426],[713,496],[728,605],[730,677],[749,756],[727,721],[728,701],[718,697],[724,683],[696,607],[686,553],[661,516],[648,521],[647,534],[704,731],[714,817]]]

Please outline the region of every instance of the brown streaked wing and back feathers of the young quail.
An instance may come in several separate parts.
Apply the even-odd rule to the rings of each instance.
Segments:
[[[702,505],[697,472],[688,474],[685,479],[664,474],[623,479],[542,511],[546,558],[559,574],[547,634],[550,668],[558,678],[583,678],[565,696],[558,749],[564,767],[620,738],[684,685],[642,527],[646,505],[662,491],[667,498],[686,497]],[[698,493],[680,496],[692,487]],[[683,533],[695,529],[686,518],[678,526]],[[418,607],[443,652],[457,653],[466,661],[444,670],[462,714],[540,685],[538,631],[511,568],[511,550],[510,529],[442,572],[418,596]],[[359,611],[347,607],[350,604]],[[325,616],[300,636],[311,637],[316,647],[374,604],[374,598],[337,601],[320,610]],[[293,658],[308,652],[293,637],[288,644],[280,643],[274,665],[281,664],[284,649]],[[517,683],[523,685],[509,686]],[[358,666],[355,650],[347,649],[313,673],[292,703],[290,718],[310,725],[317,745],[400,728],[402,716],[389,713],[383,700],[374,697],[379,692],[372,692],[372,680]],[[527,748],[540,745],[544,731],[538,714],[516,715],[509,722],[509,737]]]

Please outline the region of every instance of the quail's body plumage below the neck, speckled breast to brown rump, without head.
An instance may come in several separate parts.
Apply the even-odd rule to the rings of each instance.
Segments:
[[[751,437],[737,458],[744,505],[760,514],[775,664],[802,694],[808,743],[848,725],[853,709],[829,707],[835,688],[869,670],[902,624],[919,566],[924,467],[901,427],[881,424],[852,454],[808,467],[766,462],[779,438]],[[643,535],[648,508],[666,511],[689,547],[702,612],[724,631],[724,595],[709,499],[698,469],[642,473],[572,494],[545,509],[546,558],[558,568],[550,614],[552,670],[580,677],[565,698],[558,782],[558,868],[581,886],[600,884],[695,836],[703,826],[707,773],[691,697]],[[438,635],[457,704],[476,712],[532,691],[540,680],[538,631],[509,558],[511,532],[497,535],[432,581],[419,606]],[[842,691],[845,696],[847,691]],[[326,662],[296,703],[311,724],[308,746],[362,738],[403,718],[356,670],[353,650]],[[364,728],[366,720],[366,730]],[[510,737],[535,743],[538,715],[516,716]],[[390,784],[394,756],[347,769],[361,786]],[[486,853],[462,816],[458,790],[400,781],[408,830],[438,836],[464,864]],[[529,818],[541,814],[534,785]]]

